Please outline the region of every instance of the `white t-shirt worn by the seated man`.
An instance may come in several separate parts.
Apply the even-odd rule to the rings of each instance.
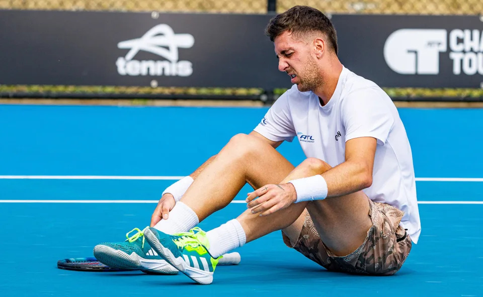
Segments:
[[[307,158],[335,167],[345,161],[346,141],[374,137],[372,185],[363,191],[375,202],[404,211],[401,225],[414,243],[421,233],[413,156],[403,122],[389,96],[374,82],[343,68],[331,100],[321,106],[313,92],[287,90],[255,131],[273,141],[296,136]]]

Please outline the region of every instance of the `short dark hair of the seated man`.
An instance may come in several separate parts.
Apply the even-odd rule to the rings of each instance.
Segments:
[[[338,53],[336,29],[332,25],[331,20],[319,10],[308,6],[294,6],[288,11],[273,17],[265,29],[265,34],[273,42],[277,36],[285,31],[295,35],[314,31],[322,32],[327,35],[336,55]]]

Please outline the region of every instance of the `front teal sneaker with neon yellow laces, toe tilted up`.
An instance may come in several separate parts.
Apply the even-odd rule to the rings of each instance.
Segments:
[[[195,227],[190,232],[174,235],[154,228],[143,232],[152,249],[179,271],[201,284],[213,281],[219,258],[213,258],[208,252],[209,242],[203,230]]]

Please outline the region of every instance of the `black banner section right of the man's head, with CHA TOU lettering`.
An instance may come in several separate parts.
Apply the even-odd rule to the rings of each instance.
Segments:
[[[469,87],[483,82],[477,16],[334,15],[339,56],[385,87]]]

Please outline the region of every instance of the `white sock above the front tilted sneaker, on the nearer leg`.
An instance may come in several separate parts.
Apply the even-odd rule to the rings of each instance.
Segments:
[[[217,258],[224,253],[243,246],[247,241],[247,235],[236,219],[226,222],[218,228],[206,232],[211,256]]]

